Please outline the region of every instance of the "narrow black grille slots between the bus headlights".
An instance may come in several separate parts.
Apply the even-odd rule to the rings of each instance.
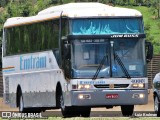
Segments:
[[[110,88],[109,84],[103,84],[103,85],[97,84],[94,86],[96,88]],[[128,86],[129,86],[129,84],[114,84],[114,88],[127,88]]]

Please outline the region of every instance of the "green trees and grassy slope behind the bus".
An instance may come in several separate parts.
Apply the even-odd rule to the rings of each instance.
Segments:
[[[47,7],[69,2],[101,2],[141,11],[147,40],[153,43],[154,54],[160,54],[160,0],[0,0],[0,44],[3,24],[7,18],[36,15]]]

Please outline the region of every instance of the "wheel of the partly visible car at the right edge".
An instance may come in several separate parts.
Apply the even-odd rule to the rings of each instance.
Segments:
[[[157,114],[157,117],[160,117],[160,103],[157,95],[154,98],[154,111]]]

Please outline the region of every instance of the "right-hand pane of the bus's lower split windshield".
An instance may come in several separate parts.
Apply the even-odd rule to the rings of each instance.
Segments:
[[[131,77],[144,77],[145,73],[145,48],[144,39],[114,39],[113,54],[118,56],[112,60],[112,74],[114,77],[126,77],[124,69]],[[119,59],[119,60],[118,60]],[[120,62],[119,62],[120,61]],[[122,68],[124,65],[124,69]]]

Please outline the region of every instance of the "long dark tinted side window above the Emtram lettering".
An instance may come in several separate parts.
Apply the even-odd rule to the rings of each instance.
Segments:
[[[7,28],[6,54],[58,48],[59,20]]]

